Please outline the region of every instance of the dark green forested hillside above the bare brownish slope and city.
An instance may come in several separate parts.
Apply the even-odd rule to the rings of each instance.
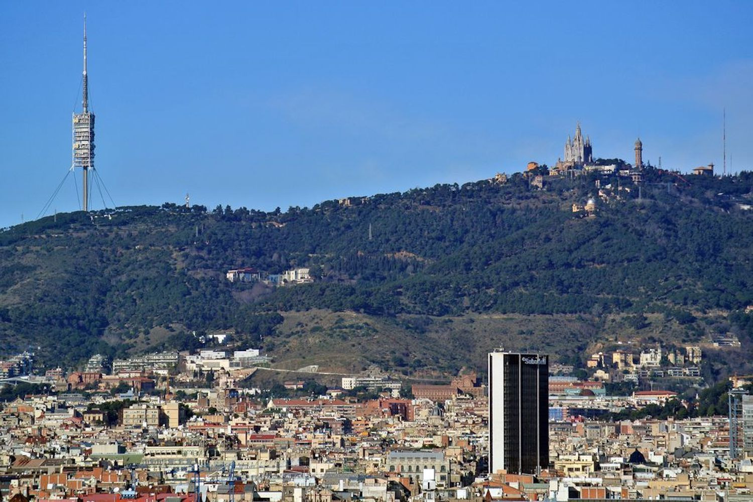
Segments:
[[[166,204],[57,214],[0,232],[0,340],[5,352],[39,345],[45,363],[75,364],[96,351],[184,346],[192,330],[255,343],[276,333],[278,312],[306,309],[597,324],[661,314],[690,338],[705,336],[707,315],[742,325],[734,316],[753,304],[753,175],[645,178],[640,199],[624,179],[602,178],[599,197],[593,176],[535,190],[514,175],[284,212]],[[590,197],[596,214],[572,210]],[[316,281],[224,278],[240,266],[309,267]],[[166,335],[150,345],[157,329]]]

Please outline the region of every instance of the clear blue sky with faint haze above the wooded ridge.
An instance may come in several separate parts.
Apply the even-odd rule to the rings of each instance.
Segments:
[[[462,184],[553,164],[578,120],[596,157],[640,135],[651,163],[721,167],[725,107],[727,166],[753,167],[753,3],[525,3],[4,2],[0,227],[70,166],[84,11],[117,205]],[[50,211],[77,208],[69,180]]]

